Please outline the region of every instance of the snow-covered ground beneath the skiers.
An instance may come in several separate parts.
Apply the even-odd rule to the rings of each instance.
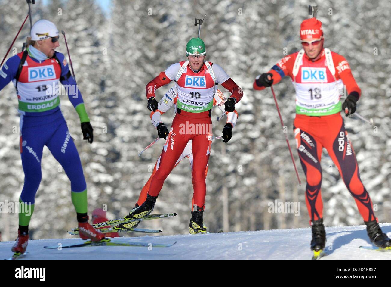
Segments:
[[[391,236],[391,223],[380,224]],[[359,249],[371,246],[365,226],[326,227],[330,255],[322,260],[391,260],[390,252]],[[77,244],[80,238],[30,240],[29,255],[20,260],[308,260],[310,228],[214,233],[206,235],[140,236],[113,238],[120,242],[170,244],[171,247],[97,246],[44,249],[45,245]],[[9,258],[12,241],[0,242],[0,259]]]

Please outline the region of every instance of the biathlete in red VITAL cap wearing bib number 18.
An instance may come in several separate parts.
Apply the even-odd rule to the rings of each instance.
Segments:
[[[296,90],[296,119],[294,136],[301,166],[307,178],[306,203],[312,222],[311,249],[325,247],[321,198],[321,155],[326,148],[337,166],[346,187],[354,197],[359,212],[367,225],[371,241],[378,246],[391,246],[382,233],[373,212],[372,202],[360,179],[359,167],[341,110],[353,114],[361,89],[353,78],[346,59],[323,47],[322,23],[316,18],[304,20],[300,26],[303,49],[282,58],[269,72],[258,76],[254,89],[263,90],[289,76]],[[348,96],[341,105],[341,91]]]

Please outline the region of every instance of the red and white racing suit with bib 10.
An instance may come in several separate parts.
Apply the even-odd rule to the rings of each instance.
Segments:
[[[147,98],[155,97],[157,88],[176,82],[177,112],[163,146],[158,161],[158,168],[151,179],[148,194],[157,196],[163,182],[176,166],[187,143],[192,141],[192,180],[194,188],[194,205],[199,210],[204,208],[206,195],[206,168],[212,144],[211,108],[217,90],[217,84],[229,90],[239,102],[243,96],[241,89],[217,64],[204,62],[197,72],[194,72],[188,61],[171,65],[165,72],[154,78],[145,87]],[[163,98],[164,101],[164,98]]]

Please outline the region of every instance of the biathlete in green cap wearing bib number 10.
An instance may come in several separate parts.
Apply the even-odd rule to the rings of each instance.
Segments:
[[[157,128],[159,136],[166,138],[160,160],[156,163],[156,173],[151,180],[147,199],[141,206],[132,209],[126,218],[142,218],[152,212],[163,182],[174,168],[188,141],[192,140],[193,163],[192,179],[194,204],[190,233],[204,233],[203,212],[206,195],[206,166],[208,164],[212,143],[212,121],[210,119],[213,97],[217,84],[231,92],[224,103],[226,112],[235,110],[235,103],[242,98],[242,90],[217,64],[205,61],[205,44],[200,38],[192,38],[186,47],[187,61],[175,63],[150,81],[146,89],[151,111],[158,111],[155,91],[170,81],[175,81],[177,90],[177,111],[170,131],[160,123]],[[173,101],[163,98],[161,101]],[[162,126],[163,125],[163,126]],[[222,130],[224,142],[231,139],[232,124],[226,123]],[[133,222],[136,225],[138,222]],[[120,224],[122,228],[132,228],[132,224]]]

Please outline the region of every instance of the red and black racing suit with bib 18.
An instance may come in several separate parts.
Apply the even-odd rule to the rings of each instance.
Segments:
[[[346,59],[325,48],[320,58],[312,61],[301,50],[284,57],[269,73],[273,74],[273,85],[284,76],[290,76],[296,90],[294,135],[307,178],[305,198],[310,221],[323,218],[322,148],[326,148],[337,166],[364,221],[377,219],[369,194],[361,182],[353,146],[340,114],[343,94],[353,94],[357,99],[361,95]],[[259,87],[256,81],[253,87],[256,90],[265,88]]]

